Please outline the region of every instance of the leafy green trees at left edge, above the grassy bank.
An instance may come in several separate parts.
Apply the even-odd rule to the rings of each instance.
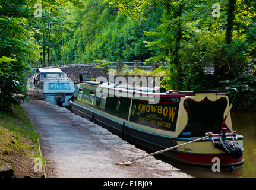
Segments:
[[[38,58],[39,46],[29,26],[27,1],[0,2],[0,110],[22,102],[30,62]]]

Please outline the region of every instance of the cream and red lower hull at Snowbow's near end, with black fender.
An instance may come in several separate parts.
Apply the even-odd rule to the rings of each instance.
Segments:
[[[196,138],[177,138],[178,145],[195,140]],[[220,166],[234,166],[244,162],[242,152],[243,149],[242,135],[232,133],[230,136],[210,137],[195,143],[186,144],[178,147],[176,152],[176,160],[204,166],[212,166],[214,163]],[[232,144],[231,146],[226,144]],[[218,148],[217,145],[223,148]]]

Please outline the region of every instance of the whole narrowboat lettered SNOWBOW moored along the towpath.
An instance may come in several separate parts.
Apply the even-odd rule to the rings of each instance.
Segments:
[[[244,162],[242,154],[230,156],[216,143],[235,142],[243,151],[243,136],[232,128],[227,112],[227,93],[219,91],[172,91],[99,81],[81,81],[75,87],[69,109],[150,151],[174,147],[208,132],[215,134],[195,143],[162,153],[178,162],[221,166]],[[224,145],[225,147],[225,145]]]

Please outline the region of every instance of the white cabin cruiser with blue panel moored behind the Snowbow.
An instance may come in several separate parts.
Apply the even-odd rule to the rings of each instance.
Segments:
[[[27,83],[27,94],[58,106],[68,106],[75,86],[59,68],[37,68]]]

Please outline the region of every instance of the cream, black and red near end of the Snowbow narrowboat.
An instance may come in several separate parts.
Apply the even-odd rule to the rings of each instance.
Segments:
[[[217,144],[225,146],[225,143],[234,142],[236,148],[243,151],[244,137],[233,132],[229,114],[231,108],[232,104],[229,105],[229,98],[225,93],[218,91],[188,92],[181,99],[180,122],[176,131],[177,144],[201,138],[207,132],[219,135],[178,147],[175,150],[175,159],[206,166],[213,165],[216,160],[221,166],[241,164],[244,161],[242,154],[239,157],[232,157],[228,151],[216,148]]]

